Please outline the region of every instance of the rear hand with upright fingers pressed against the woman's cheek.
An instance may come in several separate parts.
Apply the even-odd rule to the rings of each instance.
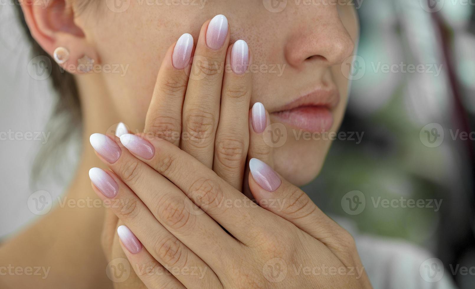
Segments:
[[[216,22],[223,18],[215,19]],[[157,77],[145,131],[179,146],[241,190],[251,123],[248,121],[251,75],[243,74],[242,67],[247,68],[251,57],[249,53],[245,56],[246,66],[236,61],[233,64],[232,48],[228,47],[229,33],[221,37],[222,47],[210,49],[205,40],[208,24],[209,21],[205,22],[201,29],[196,51],[192,37],[187,34],[169,48]],[[227,22],[225,25],[228,27]],[[237,44],[245,45],[242,40]],[[182,57],[174,51],[182,51]],[[194,58],[192,65],[190,58]],[[229,69],[229,65],[233,67]],[[254,111],[261,113],[254,121],[261,131],[268,117],[262,115],[265,110],[260,103]],[[121,130],[127,132],[123,127]],[[251,144],[253,147],[258,149],[256,153],[262,151],[259,145]],[[249,150],[249,156],[254,156],[254,150]],[[122,224],[111,211],[106,212],[103,247],[109,261],[125,257],[115,233]],[[114,285],[116,288],[143,285],[138,281],[132,275],[126,282]]]

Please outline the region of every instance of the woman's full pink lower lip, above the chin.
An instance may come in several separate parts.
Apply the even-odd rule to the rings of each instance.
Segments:
[[[333,115],[325,106],[303,106],[283,112],[273,112],[282,122],[309,132],[329,131]]]

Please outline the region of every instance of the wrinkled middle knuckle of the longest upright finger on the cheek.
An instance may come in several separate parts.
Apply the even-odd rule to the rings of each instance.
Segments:
[[[185,131],[195,144],[208,145],[215,127],[214,116],[200,109],[193,109],[185,118]],[[208,141],[207,141],[208,140]]]

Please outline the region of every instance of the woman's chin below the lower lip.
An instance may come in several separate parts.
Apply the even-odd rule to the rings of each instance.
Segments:
[[[295,186],[304,186],[320,173],[330,140],[287,140],[274,149],[276,171]]]

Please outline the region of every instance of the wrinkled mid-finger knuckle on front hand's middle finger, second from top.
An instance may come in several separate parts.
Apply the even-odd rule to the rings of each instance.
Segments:
[[[165,224],[175,231],[186,230],[187,227],[193,226],[194,218],[186,209],[185,201],[185,198],[171,196],[158,207],[158,214]]]

